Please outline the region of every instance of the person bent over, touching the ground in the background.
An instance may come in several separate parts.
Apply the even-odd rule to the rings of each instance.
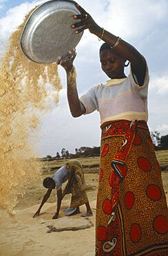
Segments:
[[[62,184],[67,181],[65,190],[62,192]],[[92,210],[86,194],[85,177],[83,167],[79,161],[69,161],[66,165],[57,170],[52,177],[45,178],[43,180],[43,186],[48,188],[47,193],[43,196],[43,200],[39,209],[34,214],[39,215],[43,204],[48,200],[50,194],[54,188],[57,192],[57,208],[56,213],[52,219],[59,217],[59,210],[61,208],[61,201],[65,194],[72,193],[70,208],[75,209],[73,214],[80,213],[79,206],[85,204],[86,213],[81,215],[83,217],[92,216]],[[70,214],[69,214],[70,215]]]

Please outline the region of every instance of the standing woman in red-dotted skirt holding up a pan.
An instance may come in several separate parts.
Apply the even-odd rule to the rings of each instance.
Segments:
[[[105,44],[101,68],[110,78],[78,98],[76,53],[61,59],[72,116],[98,110],[101,166],[96,208],[96,255],[166,255],[167,204],[147,127],[148,68],[132,45],[99,27],[81,6],[75,33],[89,29]],[[125,62],[131,64],[128,77]]]

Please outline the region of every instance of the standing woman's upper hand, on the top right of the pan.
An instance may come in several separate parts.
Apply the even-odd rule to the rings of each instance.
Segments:
[[[72,24],[72,28],[78,28],[78,30],[76,30],[76,34],[81,33],[83,30],[85,29],[89,29],[90,33],[95,34],[98,30],[100,30],[101,28],[96,24],[96,22],[94,21],[94,19],[92,19],[92,17],[90,16],[90,14],[88,12],[86,12],[81,6],[79,6],[78,4],[76,4],[76,8],[78,8],[78,10],[81,12],[81,15],[74,15],[73,19],[81,19],[81,21],[79,21],[76,24]]]

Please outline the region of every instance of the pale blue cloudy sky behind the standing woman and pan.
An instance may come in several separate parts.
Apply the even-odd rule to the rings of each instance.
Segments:
[[[45,1],[0,0],[0,55],[11,33],[23,22],[24,16]],[[168,134],[168,1],[167,0],[78,0],[96,23],[110,33],[132,44],[145,56],[149,66],[149,120],[150,131]],[[108,77],[101,71],[98,59],[103,41],[87,30],[76,46],[74,61],[79,95],[83,95]],[[126,74],[128,73],[128,68]],[[70,153],[76,148],[98,147],[101,129],[99,113],[72,118],[66,97],[65,71],[59,66],[63,89],[59,104],[41,118],[38,138],[39,156],[56,156],[64,147]]]

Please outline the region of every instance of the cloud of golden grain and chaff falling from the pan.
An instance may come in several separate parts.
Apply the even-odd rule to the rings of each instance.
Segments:
[[[30,13],[12,33],[0,66],[0,206],[9,212],[40,176],[30,133],[38,129],[41,112],[49,109],[48,94],[52,91],[57,104],[61,89],[57,64],[36,64],[21,51],[21,32]]]

